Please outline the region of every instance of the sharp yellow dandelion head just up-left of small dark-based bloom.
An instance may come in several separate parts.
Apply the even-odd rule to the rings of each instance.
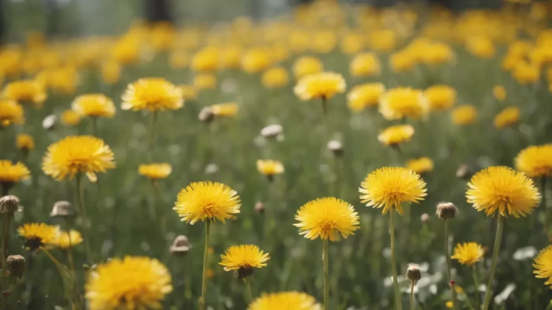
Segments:
[[[241,201],[236,191],[219,182],[191,182],[178,193],[173,208],[182,222],[195,224],[206,219],[223,222],[235,219],[239,213]]]

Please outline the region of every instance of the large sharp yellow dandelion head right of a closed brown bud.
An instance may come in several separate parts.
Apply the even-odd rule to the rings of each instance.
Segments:
[[[540,202],[535,183],[522,172],[509,167],[488,167],[468,182],[466,198],[477,211],[492,216],[496,211],[503,217],[525,217]]]

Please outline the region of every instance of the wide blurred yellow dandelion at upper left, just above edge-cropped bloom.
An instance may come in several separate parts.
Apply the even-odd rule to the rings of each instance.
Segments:
[[[16,102],[32,103],[38,108],[42,107],[47,97],[44,86],[35,80],[10,82],[4,86],[3,96]]]

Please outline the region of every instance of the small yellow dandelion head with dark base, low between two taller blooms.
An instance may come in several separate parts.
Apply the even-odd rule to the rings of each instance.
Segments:
[[[270,259],[268,253],[252,244],[231,246],[220,258],[219,265],[224,266],[224,271],[238,270],[239,278],[252,274],[253,268],[265,267]]]

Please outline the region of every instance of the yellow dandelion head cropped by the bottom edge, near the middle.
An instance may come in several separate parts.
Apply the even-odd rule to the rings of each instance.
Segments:
[[[281,291],[278,293],[263,293],[261,297],[251,302],[248,310],[319,310],[313,296],[299,291]]]

